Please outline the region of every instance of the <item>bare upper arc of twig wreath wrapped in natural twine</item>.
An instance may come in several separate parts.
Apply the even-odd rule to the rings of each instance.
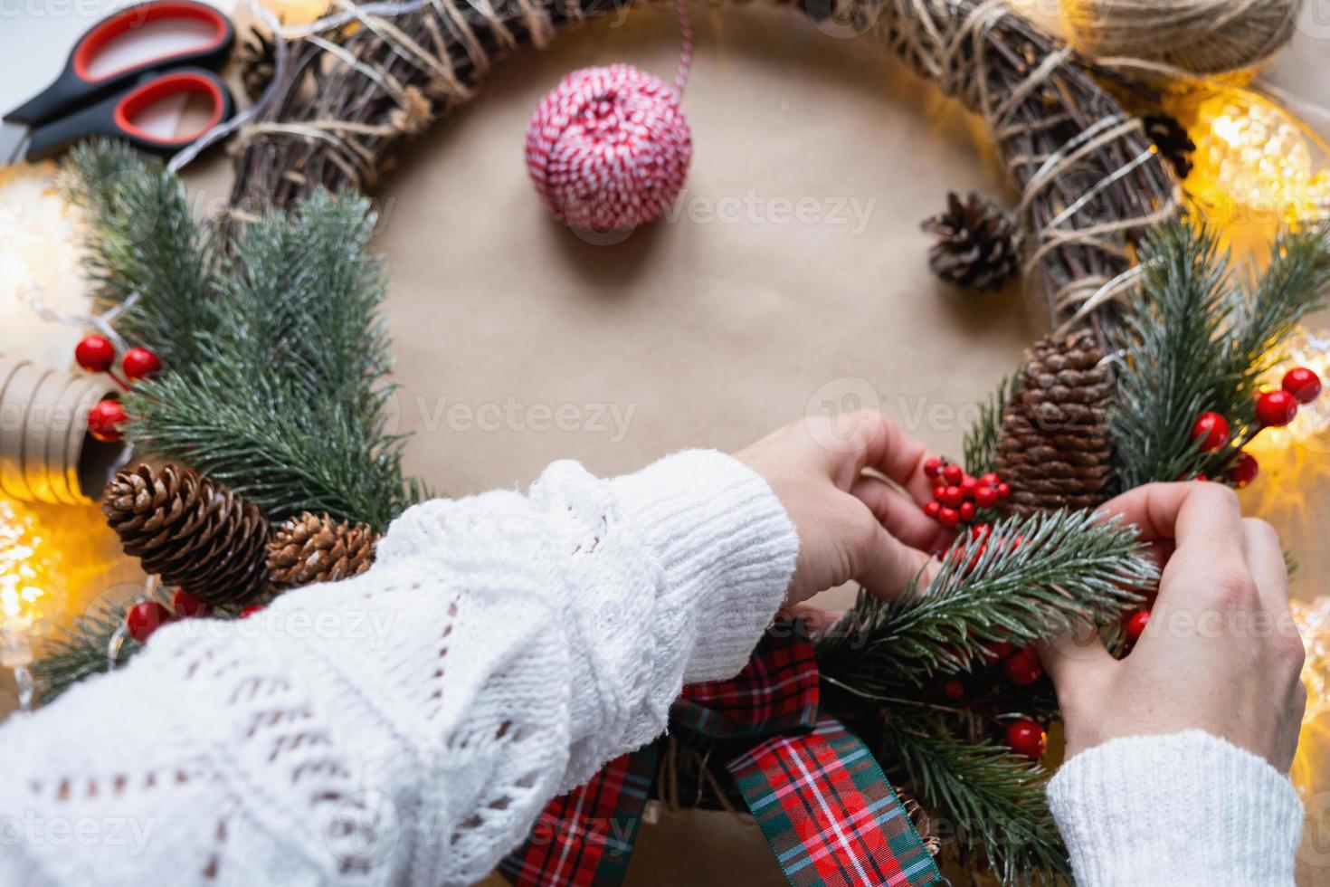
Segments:
[[[289,35],[303,39],[238,140],[238,218],[321,185],[372,185],[402,138],[422,129],[422,100],[446,113],[475,94],[493,60],[543,47],[620,3],[419,0],[392,13],[384,5],[342,0],[335,28]],[[1140,120],[1093,78],[1111,73],[1003,0],[833,0],[830,9],[807,9],[878,33],[984,118],[1021,195],[1027,270],[1039,273],[1056,324],[1115,311],[1132,242],[1177,213],[1177,188]]]

